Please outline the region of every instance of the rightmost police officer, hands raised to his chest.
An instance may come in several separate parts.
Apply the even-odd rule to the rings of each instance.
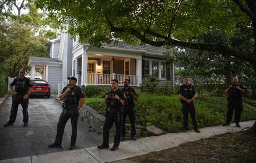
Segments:
[[[239,124],[241,113],[242,113],[242,94],[247,93],[247,89],[244,85],[239,84],[237,77],[233,78],[233,84],[230,84],[224,92],[228,95],[228,112],[226,114],[226,122],[223,126],[230,125],[232,119],[233,110],[235,109],[234,121],[236,127],[241,127]]]

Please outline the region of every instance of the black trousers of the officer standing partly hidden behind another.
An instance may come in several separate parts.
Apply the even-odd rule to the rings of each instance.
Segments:
[[[126,117],[129,116],[130,127],[132,128],[132,132],[130,133],[130,137],[135,137],[136,128],[135,128],[135,109],[134,108],[124,108],[124,121],[122,122],[122,137],[126,137]]]

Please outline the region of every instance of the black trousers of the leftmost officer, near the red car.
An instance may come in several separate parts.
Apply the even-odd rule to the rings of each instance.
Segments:
[[[15,99],[17,97],[13,97],[14,100],[12,100],[12,108],[11,108],[11,115],[9,122],[14,123],[16,121],[17,112],[19,108],[19,104],[22,106],[22,113],[23,113],[23,122],[27,124],[28,122],[28,98],[26,100],[23,99],[23,97],[20,97],[18,99]]]

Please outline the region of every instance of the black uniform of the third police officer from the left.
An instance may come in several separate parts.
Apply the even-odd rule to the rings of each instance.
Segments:
[[[106,100],[106,119],[103,127],[103,146],[109,146],[109,130],[111,129],[113,123],[116,125],[116,135],[114,136],[114,146],[118,147],[121,139],[122,132],[122,121],[123,121],[123,111],[122,104],[119,100],[116,100],[115,95],[127,102],[124,93],[117,89],[116,91],[111,90],[108,92],[108,99]]]

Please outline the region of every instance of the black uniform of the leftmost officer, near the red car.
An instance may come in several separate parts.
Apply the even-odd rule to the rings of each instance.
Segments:
[[[15,85],[16,95],[12,95],[12,108],[9,123],[13,124],[17,117],[17,111],[19,108],[19,104],[22,106],[23,113],[23,122],[24,124],[28,123],[28,98],[23,99],[24,95],[28,92],[28,90],[32,87],[30,84],[30,79],[28,78],[15,78],[14,81],[10,84],[11,86]]]

